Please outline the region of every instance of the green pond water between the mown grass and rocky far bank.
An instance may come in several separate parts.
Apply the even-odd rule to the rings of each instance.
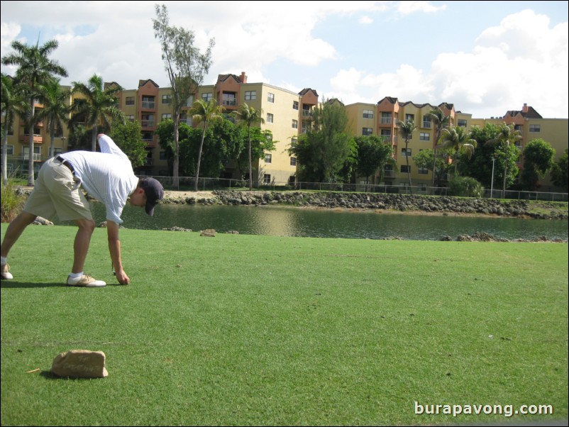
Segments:
[[[104,206],[91,202],[95,221],[104,221]],[[289,235],[321,238],[401,237],[406,240],[441,240],[477,231],[497,238],[553,240],[568,238],[568,221],[470,216],[429,216],[336,209],[301,209],[285,206],[201,206],[161,204],[154,216],[127,204],[123,226],[161,230],[174,226],[194,231],[214,228],[219,233]]]

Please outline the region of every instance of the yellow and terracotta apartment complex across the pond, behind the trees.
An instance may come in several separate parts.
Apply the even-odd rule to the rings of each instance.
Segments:
[[[116,82],[106,83],[117,84]],[[65,87],[69,89],[69,87]],[[70,96],[69,102],[74,101]],[[265,153],[265,157],[256,160],[253,165],[253,181],[259,184],[284,185],[294,183],[296,180],[297,162],[291,157],[287,149],[292,140],[306,132],[311,122],[312,110],[319,104],[319,96],[314,89],[303,89],[299,93],[272,86],[263,82],[248,82],[245,72],[241,74],[220,74],[215,84],[202,85],[194,96],[187,100],[185,109],[189,109],[194,99],[216,99],[225,107],[227,118],[233,120],[229,114],[238,111],[246,103],[262,111],[264,123],[260,124],[263,130],[272,133],[275,150]],[[118,92],[118,106],[130,120],[140,122],[142,138],[147,144],[148,157],[145,165],[136,172],[140,175],[167,176],[167,160],[164,150],[160,148],[155,130],[158,123],[166,118],[172,118],[172,91],[170,87],[159,87],[152,79],[141,79],[136,89],[123,89]],[[473,118],[472,114],[455,111],[453,104],[442,103],[438,107],[450,116],[453,126],[471,128],[485,126],[485,123],[514,123],[516,130],[523,135],[519,142],[519,167],[523,162],[524,147],[534,138],[542,138],[550,143],[556,150],[556,160],[568,148],[568,119],[543,118],[533,107],[524,104],[519,111],[507,111],[503,117]],[[42,106],[37,105],[40,109]],[[421,170],[412,160],[412,156],[426,148],[436,145],[436,129],[429,120],[429,112],[436,108],[431,104],[416,104],[411,101],[399,101],[397,98],[385,96],[377,104],[355,103],[346,106],[350,131],[353,135],[379,135],[386,138],[393,147],[396,166],[387,165],[383,173],[384,182],[388,185],[407,186],[407,157],[411,171],[411,182],[414,187],[430,187],[432,172]],[[405,149],[404,140],[398,134],[398,121],[412,119],[418,128],[413,133]],[[191,118],[182,113],[181,121],[192,125]],[[34,128],[33,161],[34,169],[39,170],[40,165],[53,155],[64,153],[68,148],[67,128],[59,129],[56,133],[53,153],[50,150],[50,137],[48,129],[43,123]],[[28,170],[29,153],[28,128],[23,121],[16,117],[8,136],[8,170],[16,169],[22,172]],[[248,171],[245,171],[247,173]],[[378,170],[372,177],[372,184],[380,184],[382,175]],[[236,165],[228,162],[224,178],[241,179]],[[365,178],[358,178],[358,183],[365,182]],[[543,180],[542,189],[551,188],[549,177]],[[565,189],[566,191],[566,189]]]

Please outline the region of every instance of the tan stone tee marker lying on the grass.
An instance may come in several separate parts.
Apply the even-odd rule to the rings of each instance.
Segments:
[[[102,351],[70,350],[55,356],[51,372],[58,377],[104,378],[109,375]]]

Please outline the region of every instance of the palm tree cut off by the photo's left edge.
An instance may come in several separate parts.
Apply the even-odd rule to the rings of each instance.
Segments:
[[[2,73],[2,94],[1,111],[4,117],[2,123],[2,184],[8,185],[8,133],[13,126],[16,114],[22,115],[26,111],[27,104],[23,90],[25,87],[18,87],[13,77]]]

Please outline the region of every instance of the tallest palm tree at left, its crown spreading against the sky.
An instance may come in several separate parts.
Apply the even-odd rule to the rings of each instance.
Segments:
[[[33,128],[38,123],[35,114],[35,99],[38,99],[38,85],[48,81],[51,77],[67,77],[67,70],[59,65],[55,60],[50,60],[49,55],[57,49],[57,40],[49,40],[40,46],[40,42],[35,46],[28,46],[18,41],[14,41],[11,47],[16,52],[2,58],[2,65],[16,65],[16,80],[26,85],[26,97],[28,99],[28,133],[30,135],[30,157],[28,159],[28,185],[34,184],[33,172]]]

